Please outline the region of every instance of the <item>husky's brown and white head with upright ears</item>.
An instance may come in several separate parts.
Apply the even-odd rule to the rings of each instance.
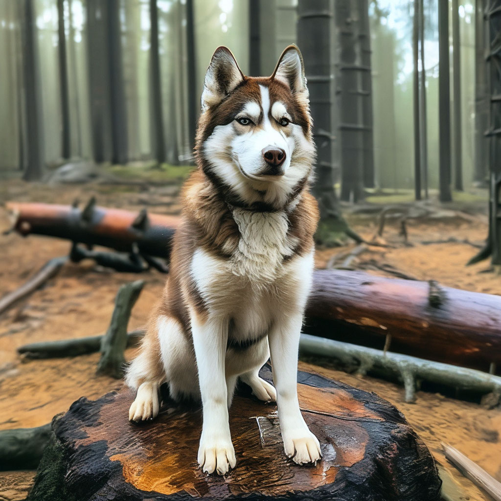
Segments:
[[[302,191],[315,147],[303,59],[289,46],[268,78],[246,77],[226,47],[205,75],[196,154],[237,206],[277,210]]]

